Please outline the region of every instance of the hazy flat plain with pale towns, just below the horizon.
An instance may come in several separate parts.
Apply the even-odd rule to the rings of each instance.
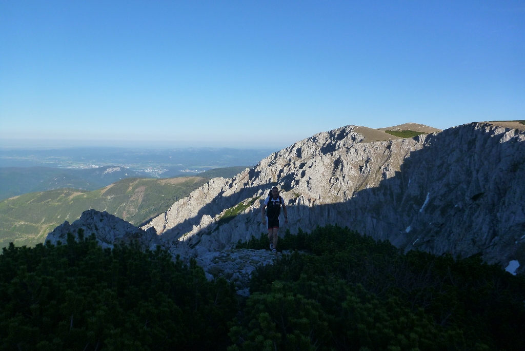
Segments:
[[[2,167],[51,167],[89,169],[124,167],[154,177],[196,176],[214,168],[256,164],[277,149],[132,149],[132,148],[64,148],[0,149]]]

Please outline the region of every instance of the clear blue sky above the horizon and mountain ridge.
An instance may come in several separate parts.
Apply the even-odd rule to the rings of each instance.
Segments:
[[[501,119],[525,119],[523,0],[0,2],[0,147]]]

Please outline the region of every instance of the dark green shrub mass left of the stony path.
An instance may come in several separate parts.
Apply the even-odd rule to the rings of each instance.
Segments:
[[[225,280],[160,249],[11,244],[0,256],[0,350],[225,349]]]

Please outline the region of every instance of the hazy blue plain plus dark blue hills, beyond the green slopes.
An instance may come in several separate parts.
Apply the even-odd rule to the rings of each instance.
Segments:
[[[277,150],[0,149],[0,200],[60,188],[96,190],[124,178],[201,177],[212,169],[256,164],[274,151]]]

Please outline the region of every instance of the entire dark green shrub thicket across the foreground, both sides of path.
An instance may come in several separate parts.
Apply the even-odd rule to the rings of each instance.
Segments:
[[[266,249],[266,236],[239,247]],[[286,234],[251,296],[162,250],[9,246],[0,350],[522,350],[525,280],[338,226]]]

